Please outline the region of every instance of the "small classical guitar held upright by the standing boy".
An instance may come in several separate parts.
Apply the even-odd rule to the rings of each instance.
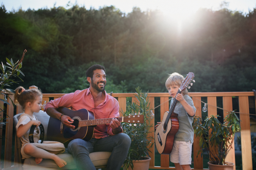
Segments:
[[[194,79],[194,77],[194,73],[189,72],[189,74],[187,74],[186,78],[180,85],[177,93],[181,93],[186,88],[190,88],[188,85],[192,85],[190,82]],[[195,80],[193,81],[195,82]],[[164,113],[163,121],[159,124],[155,131],[155,144],[160,154],[170,154],[172,152],[174,137],[179,130],[178,114],[173,112],[176,104],[177,100],[175,97],[169,112],[166,111]]]

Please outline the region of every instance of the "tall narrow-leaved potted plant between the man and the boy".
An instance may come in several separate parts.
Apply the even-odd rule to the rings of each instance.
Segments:
[[[151,120],[154,117],[154,114],[149,108],[150,102],[148,99],[148,93],[142,93],[139,87],[136,88],[136,92],[135,97],[139,102],[133,102],[131,105],[128,105],[127,110],[125,113],[122,112],[122,114],[123,116],[137,114],[144,115],[144,123],[122,123],[124,133],[131,138],[131,147],[128,151],[123,167],[126,170],[144,170],[143,168],[148,170],[149,161],[151,160],[151,158],[148,157],[148,153],[151,152],[149,149],[154,145],[154,139],[152,137],[148,137],[148,133],[150,133],[150,127],[153,126],[151,125]]]

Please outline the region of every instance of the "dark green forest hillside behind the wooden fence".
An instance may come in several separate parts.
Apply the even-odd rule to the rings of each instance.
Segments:
[[[105,66],[106,91],[167,92],[168,74],[195,74],[190,92],[256,88],[256,8],[248,14],[199,9],[180,23],[159,10],[125,14],[114,6],[0,7],[0,61],[17,61],[23,50],[22,85],[43,93],[89,87],[86,70]]]

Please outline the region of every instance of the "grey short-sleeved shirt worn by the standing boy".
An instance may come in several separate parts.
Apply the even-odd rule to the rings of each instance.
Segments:
[[[196,108],[194,106],[193,100],[188,95],[183,96],[186,102],[188,102],[189,105],[192,106],[194,111],[196,111]],[[171,100],[172,106],[173,99]],[[170,107],[171,108],[171,107]],[[186,110],[183,108],[183,106],[180,104],[179,101],[177,101],[177,105],[174,109],[174,113],[178,114],[179,119],[179,130],[177,131],[174,140],[175,141],[183,141],[183,142],[190,142],[193,143],[194,141],[194,129],[192,127],[193,117],[190,116]]]

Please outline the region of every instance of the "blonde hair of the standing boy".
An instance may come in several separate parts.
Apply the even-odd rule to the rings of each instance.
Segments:
[[[168,88],[171,85],[177,85],[180,88],[180,85],[182,84],[182,82],[184,81],[184,77],[181,74],[178,74],[176,72],[169,74],[168,79],[166,80],[166,89],[168,90]],[[184,90],[183,94],[188,94],[188,90]]]

